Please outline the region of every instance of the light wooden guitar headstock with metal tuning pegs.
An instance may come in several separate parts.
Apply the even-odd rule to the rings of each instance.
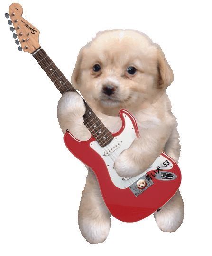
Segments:
[[[11,20],[8,20],[10,31],[14,32],[13,37],[16,39],[15,43],[21,46],[18,47],[18,50],[23,49],[24,52],[32,53],[39,45],[39,30],[35,28],[31,23],[25,20],[22,17],[23,8],[19,3],[12,3],[9,6],[9,14],[6,13],[5,17]],[[18,38],[18,39],[17,39]]]

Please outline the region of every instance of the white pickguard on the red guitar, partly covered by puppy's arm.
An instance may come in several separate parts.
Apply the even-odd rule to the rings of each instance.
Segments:
[[[125,119],[124,130],[119,136],[115,137],[106,147],[101,147],[97,141],[93,141],[90,143],[90,147],[93,150],[95,150],[104,160],[113,184],[116,187],[119,187],[122,189],[125,189],[130,185],[132,185],[134,182],[136,182],[139,179],[139,177],[142,177],[147,171],[157,169],[157,166],[163,167],[163,170],[164,169],[169,170],[172,168],[172,165],[169,165],[167,167],[163,165],[163,162],[166,161],[166,158],[160,155],[159,157],[156,158],[154,163],[145,172],[139,174],[138,176],[126,178],[126,177],[120,177],[117,174],[117,172],[114,169],[114,162],[116,158],[121,154],[122,151],[124,151],[125,149],[128,149],[129,146],[134,141],[134,139],[137,138],[133,124],[129,116],[124,115],[124,119]],[[120,145],[118,145],[118,143]],[[109,150],[112,153],[109,152]],[[110,154],[105,154],[105,152],[109,152]]]

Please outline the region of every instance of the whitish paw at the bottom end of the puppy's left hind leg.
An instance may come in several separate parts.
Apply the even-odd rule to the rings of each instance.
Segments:
[[[79,218],[81,234],[90,244],[103,243],[111,228],[110,218]]]

